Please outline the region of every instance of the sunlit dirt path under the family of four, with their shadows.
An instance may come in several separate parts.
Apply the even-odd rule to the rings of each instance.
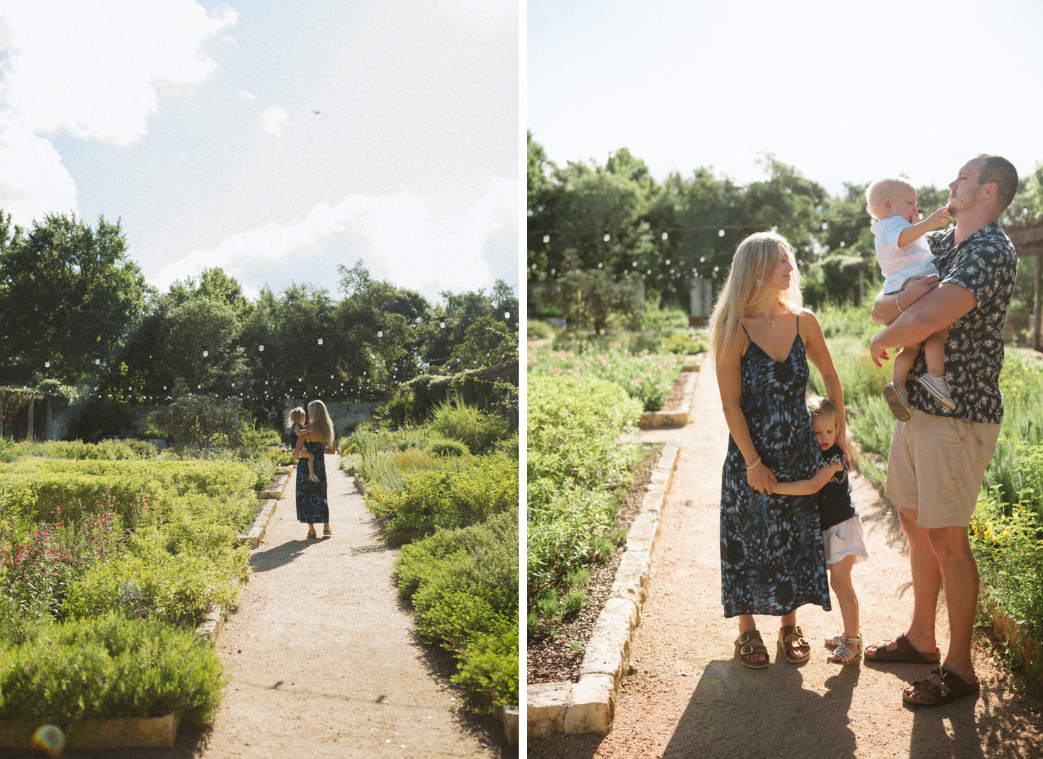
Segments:
[[[752,670],[732,659],[737,623],[721,607],[721,469],[728,432],[712,366],[700,375],[697,421],[642,433],[680,443],[678,470],[663,509],[653,574],[633,667],[624,678],[607,736],[529,741],[530,757],[1030,757],[1043,755],[1040,704],[1012,694],[1003,671],[975,652],[981,694],[930,709],[904,706],[904,683],[928,667],[825,660],[823,634],[841,629],[840,611],[804,606],[798,623],[812,643],[803,666],[774,642],[778,620],[757,617],[772,657]],[[887,504],[853,473],[870,559],[855,566],[867,644],[905,630],[912,589],[904,536]],[[944,627],[944,606],[940,633]],[[945,648],[947,638],[940,637]],[[1034,711],[1035,710],[1035,711]]]

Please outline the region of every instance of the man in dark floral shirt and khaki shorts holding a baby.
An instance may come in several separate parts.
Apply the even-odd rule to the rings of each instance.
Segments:
[[[978,573],[967,524],[1003,418],[1001,333],[1018,256],[998,220],[1017,188],[1018,172],[1006,158],[980,154],[968,162],[949,185],[955,227],[928,236],[941,279],[915,277],[905,288],[909,301],[901,293],[881,294],[873,304],[873,320],[890,324],[870,342],[877,365],[888,348],[949,329],[946,367],[955,409],[912,385],[912,415],[895,423],[888,457],[884,494],[898,507],[909,541],[913,621],[895,640],[866,648],[866,658],[876,661],[939,661],[935,607],[944,579],[949,650],[938,669],[905,689],[904,700],[914,704],[938,706],[978,690],[971,662]],[[923,370],[921,356],[913,372]]]

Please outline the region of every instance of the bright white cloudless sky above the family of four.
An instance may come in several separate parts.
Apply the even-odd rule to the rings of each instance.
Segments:
[[[774,153],[829,192],[1043,162],[1038,0],[530,0],[528,127],[559,164],[627,147],[746,183]]]

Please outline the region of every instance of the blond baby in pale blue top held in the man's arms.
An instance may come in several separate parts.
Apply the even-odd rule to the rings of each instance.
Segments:
[[[866,189],[866,210],[873,222],[876,243],[876,262],[883,274],[883,295],[904,295],[903,308],[914,303],[913,296],[903,294],[905,283],[913,276],[938,274],[932,263],[935,256],[927,246],[924,234],[948,226],[949,210],[941,207],[923,221],[916,205],[916,188],[905,179],[877,179]],[[896,302],[903,300],[896,298]],[[945,382],[945,340],[948,328],[939,329],[924,342],[927,372],[918,382],[935,399],[949,411],[955,408],[949,386]],[[908,421],[909,405],[905,384],[909,369],[920,354],[919,345],[906,345],[895,357],[895,371],[891,383],[883,389],[891,413],[900,421]]]

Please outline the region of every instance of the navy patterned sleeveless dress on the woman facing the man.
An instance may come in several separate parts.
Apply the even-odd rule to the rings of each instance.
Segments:
[[[820,450],[804,400],[807,357],[797,337],[777,362],[747,333],[742,408],[760,460],[779,482],[807,480]],[[746,332],[746,327],[743,327]],[[782,616],[804,604],[829,611],[816,495],[767,495],[750,487],[746,462],[728,436],[721,485],[721,602],[726,617]]]

